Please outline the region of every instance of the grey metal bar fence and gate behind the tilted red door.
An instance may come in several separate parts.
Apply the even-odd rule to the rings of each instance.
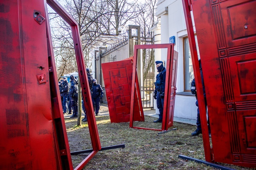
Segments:
[[[131,30],[137,29],[137,35],[132,35]],[[111,47],[100,47],[99,50],[95,52],[95,65],[96,71],[95,75],[97,77],[98,82],[101,84],[102,89],[104,91],[104,96],[102,102],[107,104],[106,95],[105,95],[105,87],[104,87],[104,79],[102,76],[101,63],[108,63],[114,61],[121,61],[133,56],[133,47],[137,44],[152,44],[153,38],[140,38],[140,27],[139,26],[129,26],[129,36],[128,38],[123,39],[122,41],[117,42]],[[154,56],[154,50],[147,49],[142,50],[142,61],[138,61],[137,69],[138,69],[138,78],[141,86],[141,99],[143,108],[154,108],[154,60],[152,57]],[[138,55],[139,57],[140,55]],[[141,68],[141,62],[143,68]],[[151,64],[149,63],[151,62]],[[153,64],[152,64],[153,62]],[[147,66],[147,68],[145,67]],[[143,71],[140,71],[143,69]],[[144,71],[147,71],[146,73]],[[142,75],[140,74],[142,73]]]

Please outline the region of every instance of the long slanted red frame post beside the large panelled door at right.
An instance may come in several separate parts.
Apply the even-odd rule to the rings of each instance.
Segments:
[[[201,120],[201,126],[202,126],[205,160],[208,162],[214,162],[213,155],[211,153],[212,148],[210,146],[206,109],[205,109],[204,96],[203,96],[203,86],[202,86],[197,48],[196,48],[196,40],[195,40],[195,35],[193,30],[192,18],[190,14],[190,11],[192,11],[192,8],[191,8],[191,4],[188,3],[188,0],[182,0],[182,3],[183,3],[183,10],[184,10],[186,26],[187,26],[188,41],[190,45],[193,70],[194,70],[195,80],[196,80],[197,99],[198,99],[199,114],[200,114],[200,120]]]

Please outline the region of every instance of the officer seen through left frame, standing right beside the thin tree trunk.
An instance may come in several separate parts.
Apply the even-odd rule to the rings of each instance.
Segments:
[[[77,118],[77,111],[78,111],[78,86],[77,80],[74,78],[73,75],[70,76],[71,82],[71,107],[73,107],[73,114],[70,118]]]

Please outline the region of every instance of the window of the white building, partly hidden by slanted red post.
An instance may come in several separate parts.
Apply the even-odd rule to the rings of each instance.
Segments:
[[[196,35],[195,35],[195,39],[196,39],[196,46],[197,46],[197,55],[198,55],[198,59],[200,59]],[[194,71],[193,71],[193,65],[192,65],[192,59],[191,59],[188,38],[184,38],[184,73],[185,73],[185,75],[184,75],[184,91],[190,91],[191,82],[195,78],[195,76],[194,76]]]

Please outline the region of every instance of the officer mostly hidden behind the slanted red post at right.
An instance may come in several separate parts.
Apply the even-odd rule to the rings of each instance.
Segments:
[[[201,80],[202,80],[202,86],[203,86],[203,96],[204,96],[204,102],[205,102],[205,110],[207,110],[207,101],[206,101],[206,94],[205,94],[205,87],[204,87],[204,81],[203,81],[203,72],[202,72],[202,66],[201,66],[201,59],[199,59],[199,67],[200,67],[200,74],[201,74]],[[196,81],[195,79],[191,82],[191,93],[195,94],[197,99],[197,92],[196,92]],[[199,107],[198,107],[198,100],[196,101],[197,106],[197,129],[191,133],[192,136],[197,136],[202,133],[202,127],[201,127],[201,120],[200,120],[200,114],[199,114]],[[208,111],[207,111],[208,115]],[[208,115],[208,132],[209,137],[211,137],[211,128],[210,128],[210,121],[209,121],[209,115]]]

